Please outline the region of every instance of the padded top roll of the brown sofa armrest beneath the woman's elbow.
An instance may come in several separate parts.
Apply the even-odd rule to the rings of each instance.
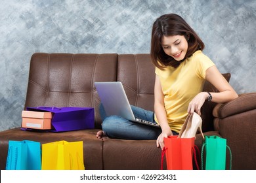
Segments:
[[[249,110],[256,109],[256,92],[243,93],[238,98],[228,103],[219,103],[213,108],[215,118],[226,118],[234,114],[240,114]]]

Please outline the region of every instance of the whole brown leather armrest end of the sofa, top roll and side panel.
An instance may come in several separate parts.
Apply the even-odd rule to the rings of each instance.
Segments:
[[[213,108],[214,129],[232,150],[232,169],[256,168],[256,92]]]

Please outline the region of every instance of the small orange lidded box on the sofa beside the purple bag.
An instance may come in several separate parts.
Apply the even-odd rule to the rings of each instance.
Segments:
[[[51,112],[22,110],[22,127],[32,129],[52,129]]]

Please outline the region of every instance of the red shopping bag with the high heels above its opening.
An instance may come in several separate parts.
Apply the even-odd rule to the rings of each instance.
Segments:
[[[197,169],[199,169],[196,159],[196,150],[194,144],[195,138],[177,138],[177,135],[164,138],[165,147],[161,154],[161,169],[163,169],[163,156],[166,157],[168,170],[192,170],[193,155]]]

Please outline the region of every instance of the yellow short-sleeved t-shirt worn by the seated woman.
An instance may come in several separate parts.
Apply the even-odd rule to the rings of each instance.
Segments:
[[[202,92],[205,71],[213,65],[213,61],[198,50],[177,68],[167,66],[161,71],[156,67],[155,73],[160,78],[167,120],[173,131],[181,131],[188,115],[188,104]]]

